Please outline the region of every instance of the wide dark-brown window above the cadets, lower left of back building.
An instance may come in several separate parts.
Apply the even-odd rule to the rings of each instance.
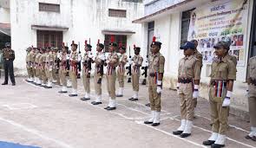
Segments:
[[[62,31],[37,30],[37,47],[46,46],[62,48]]]

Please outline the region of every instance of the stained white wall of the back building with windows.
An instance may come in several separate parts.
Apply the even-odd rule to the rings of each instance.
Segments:
[[[40,3],[60,4],[61,12],[39,11]],[[127,10],[127,17],[109,17],[108,9]],[[93,50],[98,39],[104,41],[102,29],[130,30],[128,45],[141,46],[141,24],[132,20],[142,16],[142,3],[128,3],[121,0],[10,0],[11,43],[16,51],[16,74],[25,74],[25,48],[36,46],[36,30],[31,25],[67,27],[63,32],[63,42],[74,40],[81,43],[81,51],[85,40],[91,40]],[[131,54],[134,54],[131,50]]]

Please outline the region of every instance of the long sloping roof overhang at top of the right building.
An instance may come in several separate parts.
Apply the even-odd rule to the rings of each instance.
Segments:
[[[133,23],[149,23],[154,21],[155,19],[161,18],[163,16],[167,16],[170,14],[174,14],[177,12],[182,12],[185,10],[191,10],[196,8],[197,6],[211,2],[211,0],[186,0],[181,3],[176,3],[172,6],[169,6],[163,10],[159,10],[157,12],[154,12],[153,14],[150,14],[148,16],[143,16],[139,19],[136,19],[133,21]]]

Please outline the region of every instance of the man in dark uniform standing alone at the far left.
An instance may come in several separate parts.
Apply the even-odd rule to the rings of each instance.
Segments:
[[[4,82],[2,85],[8,84],[8,74],[10,74],[10,80],[12,82],[12,86],[16,85],[14,73],[13,73],[14,59],[15,59],[14,50],[10,49],[10,42],[6,42],[5,48],[3,48]]]

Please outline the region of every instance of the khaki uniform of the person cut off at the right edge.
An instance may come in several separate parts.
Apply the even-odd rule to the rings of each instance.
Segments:
[[[256,127],[256,56],[249,60],[247,81],[250,123],[252,127]]]

